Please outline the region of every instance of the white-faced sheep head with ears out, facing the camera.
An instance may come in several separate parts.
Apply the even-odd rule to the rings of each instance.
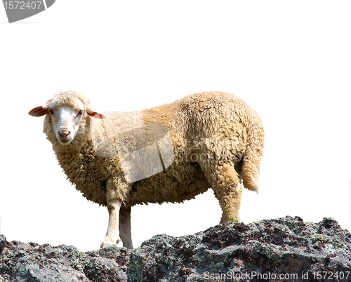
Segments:
[[[28,114],[44,116],[44,133],[53,145],[59,142],[67,146],[78,139],[77,135],[84,135],[86,123],[91,117],[105,119],[106,116],[95,111],[88,98],[75,91],[57,93],[46,104],[35,107]],[[77,138],[76,138],[77,137]],[[77,142],[83,140],[77,140]]]

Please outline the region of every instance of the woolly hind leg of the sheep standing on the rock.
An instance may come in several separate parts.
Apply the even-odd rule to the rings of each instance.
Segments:
[[[222,209],[220,223],[239,221],[242,187],[234,167],[228,163],[211,166],[205,175]]]

